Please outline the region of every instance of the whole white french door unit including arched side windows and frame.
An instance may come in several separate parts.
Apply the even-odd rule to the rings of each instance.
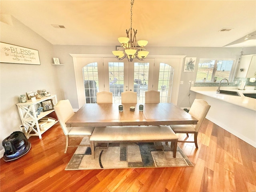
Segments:
[[[144,102],[146,90],[160,91],[160,102],[177,104],[182,64],[185,56],[148,58],[144,61],[116,60],[98,55],[93,58],[83,54],[70,54],[73,57],[78,107],[87,100],[95,102],[98,91],[113,93],[113,103],[121,102],[121,93],[127,90],[137,92],[137,102]],[[175,72],[174,72],[175,71]],[[98,74],[98,75],[96,75]],[[86,81],[88,86],[86,87]],[[93,84],[90,82],[93,81]],[[85,92],[93,96],[86,96]],[[92,99],[94,97],[94,99]]]

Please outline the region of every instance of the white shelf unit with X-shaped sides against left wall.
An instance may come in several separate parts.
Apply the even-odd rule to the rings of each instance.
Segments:
[[[48,114],[52,113],[54,110],[47,110],[37,114],[37,108],[40,106],[40,103],[46,100],[52,100],[52,103],[55,105],[57,104],[57,96],[46,96],[41,99],[37,99],[35,102],[28,100],[25,103],[17,103],[20,119],[22,121],[22,125],[27,128],[26,130],[26,137],[29,138],[30,136],[39,136],[42,138],[42,134],[46,132],[49,128],[51,128],[54,124],[58,122],[58,120],[54,122],[47,122],[44,126],[40,126],[38,122],[40,119],[46,117]]]

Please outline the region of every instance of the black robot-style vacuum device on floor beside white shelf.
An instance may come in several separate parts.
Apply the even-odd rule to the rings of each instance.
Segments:
[[[2,142],[4,146],[4,161],[12,161],[25,155],[31,148],[23,132],[15,131]]]

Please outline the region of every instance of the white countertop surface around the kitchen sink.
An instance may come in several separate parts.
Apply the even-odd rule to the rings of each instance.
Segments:
[[[234,105],[256,111],[256,99],[246,97],[243,93],[256,93],[256,90],[238,90],[237,87],[221,86],[220,90],[237,91],[240,96],[217,94],[218,87],[191,87],[190,90]]]

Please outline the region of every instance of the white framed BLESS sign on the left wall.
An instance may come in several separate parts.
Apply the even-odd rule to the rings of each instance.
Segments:
[[[40,65],[38,50],[0,42],[0,62]]]

